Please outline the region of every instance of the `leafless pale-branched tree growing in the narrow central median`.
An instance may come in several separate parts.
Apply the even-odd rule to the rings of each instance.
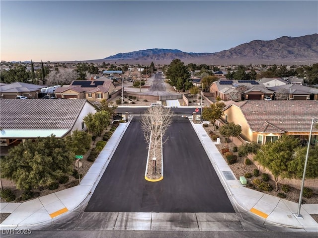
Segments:
[[[168,126],[171,124],[173,112],[170,108],[161,106],[154,106],[148,108],[145,114],[141,118],[142,130],[147,143],[150,145],[150,158],[159,157],[161,160],[162,144],[164,144],[168,138],[162,142],[162,137],[165,134]],[[162,144],[161,144],[162,142]],[[149,158],[148,158],[149,159]],[[150,162],[148,160],[148,162]],[[161,163],[161,161],[160,161]],[[156,165],[154,164],[153,175],[155,175]]]

